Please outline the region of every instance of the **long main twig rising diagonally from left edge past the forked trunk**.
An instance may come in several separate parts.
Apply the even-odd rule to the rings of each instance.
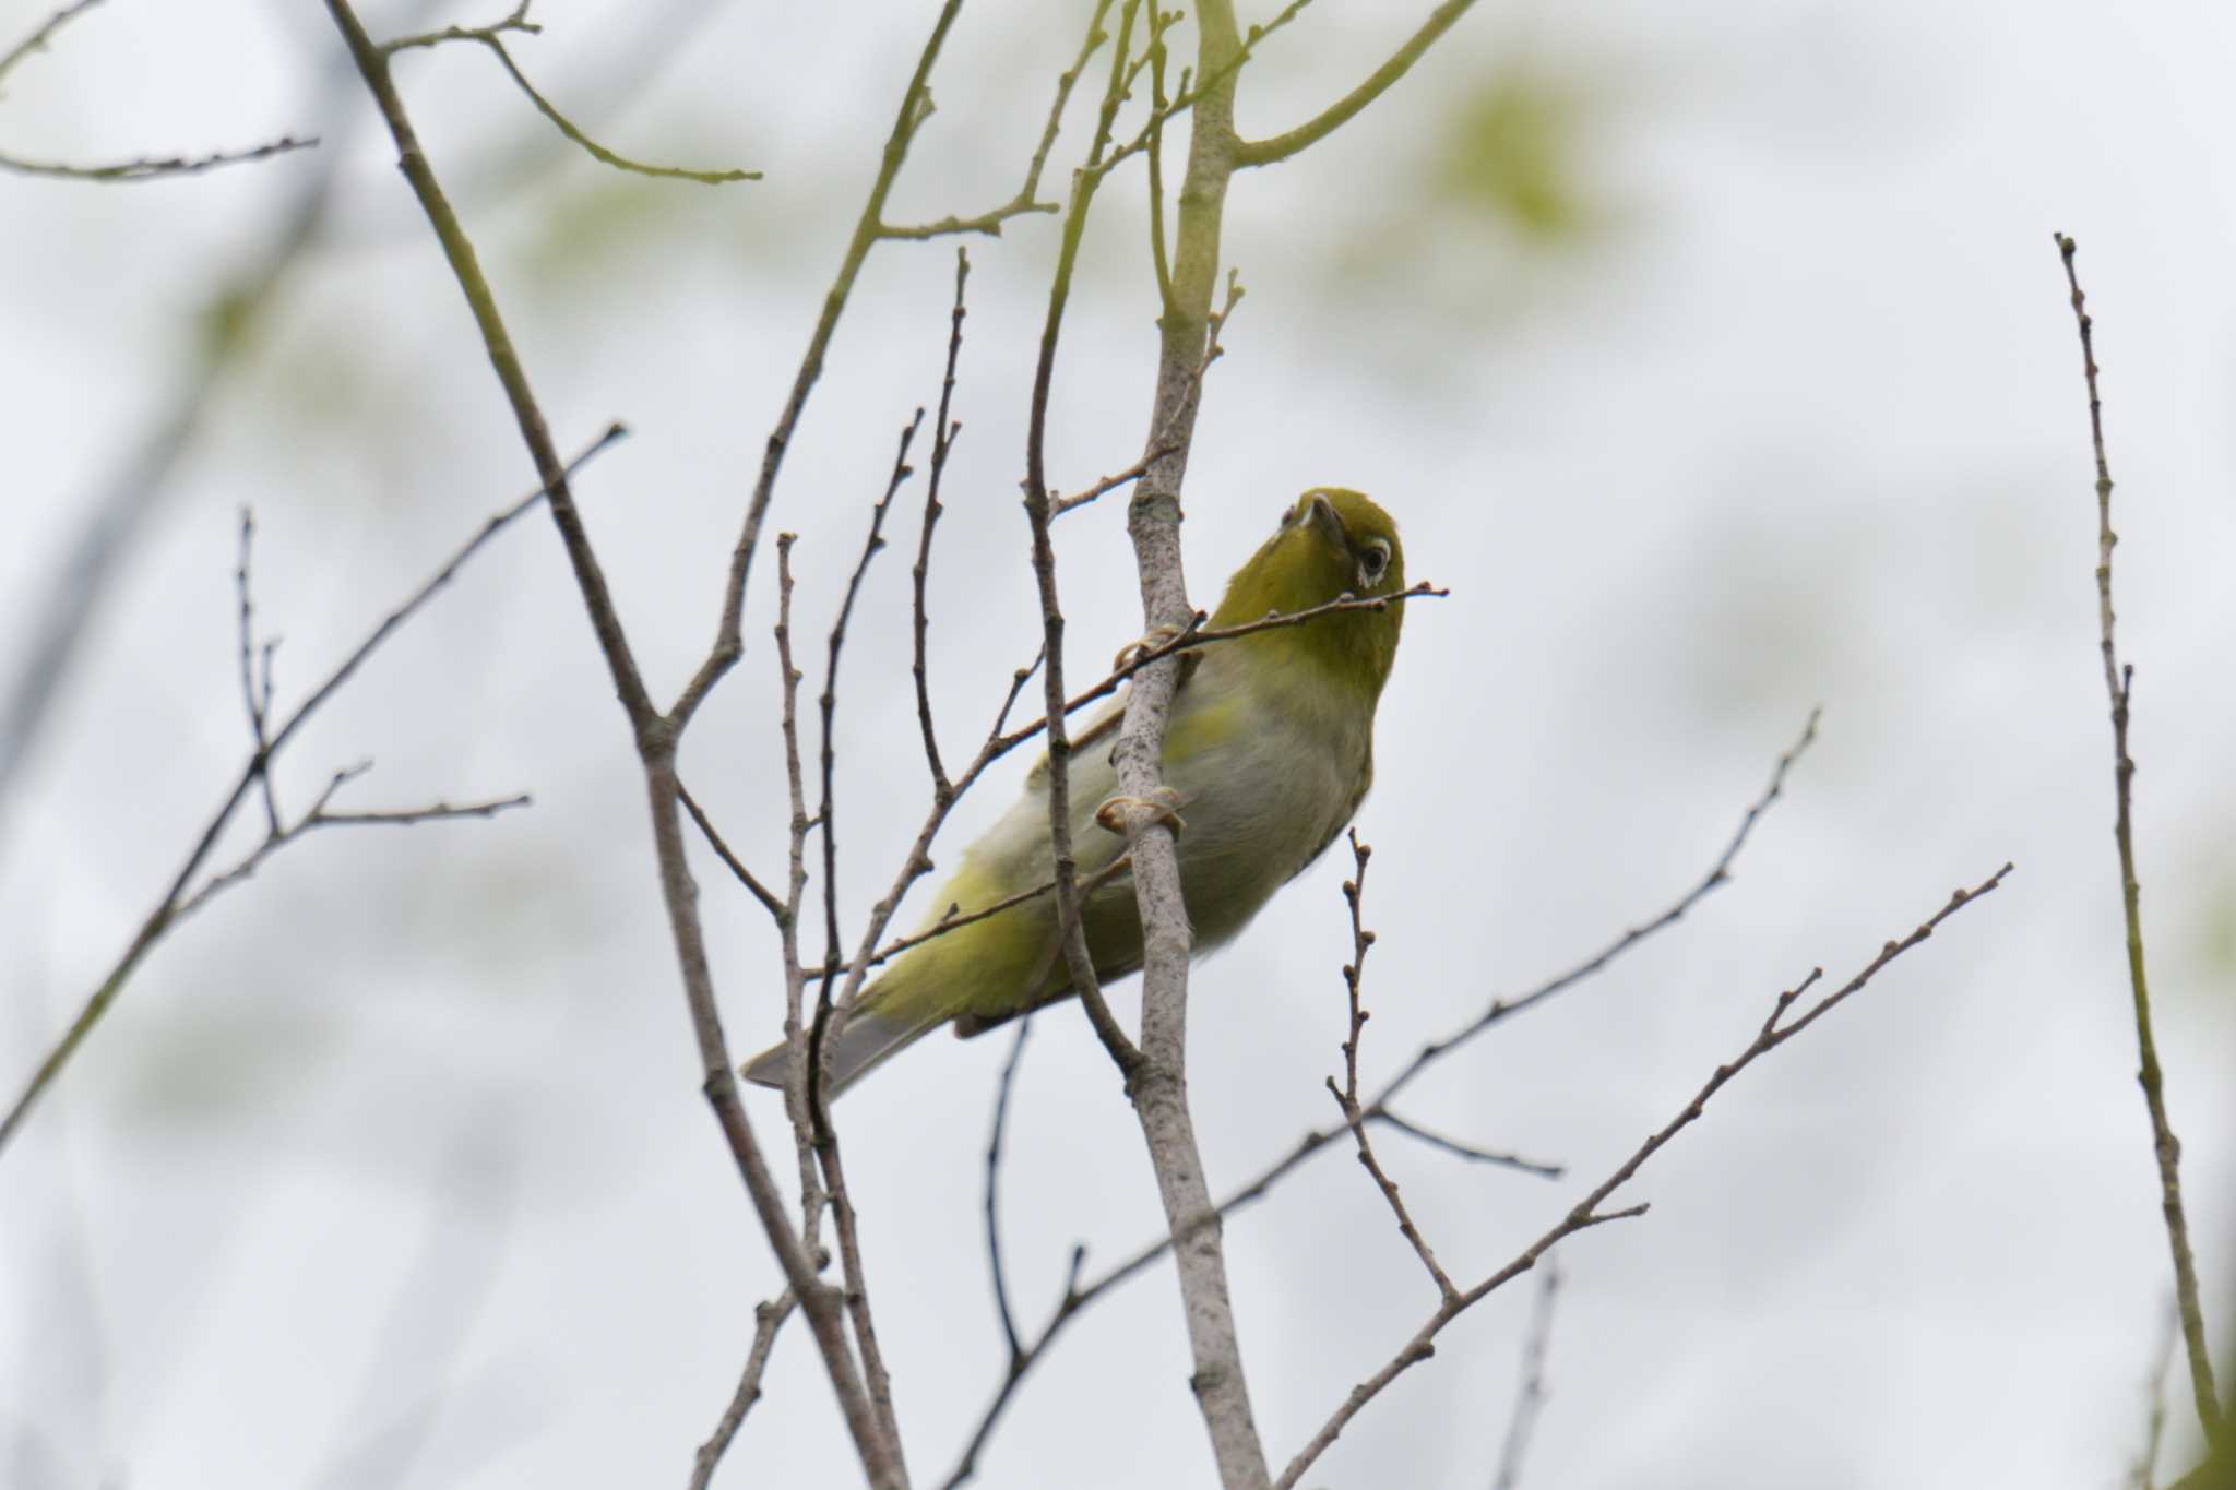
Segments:
[[[604,451],[608,445],[617,442],[628,431],[622,424],[608,427],[604,436],[599,436],[595,442],[590,442],[588,449],[575,456],[575,460],[561,467],[561,474],[570,476],[572,471],[579,471],[588,460],[593,460],[599,451]],[[170,887],[163,891],[163,898],[157,900],[154,909],[148,911],[148,916],[141,920],[139,932],[134,932],[132,936],[132,943],[123,949],[123,954],[110,967],[107,976],[92,992],[92,996],[87,996],[85,1007],[78,1010],[78,1016],[69,1023],[69,1030],[65,1030],[63,1037],[54,1043],[54,1048],[47,1050],[47,1057],[38,1063],[38,1070],[31,1072],[31,1079],[16,1097],[7,1117],[0,1119],[0,1153],[7,1150],[9,1139],[16,1137],[16,1130],[31,1112],[31,1106],[40,1099],[40,1095],[49,1086],[54,1086],[54,1079],[63,1074],[63,1068],[78,1052],[78,1045],[85,1043],[85,1037],[92,1034],[94,1025],[101,1023],[101,1016],[107,1014],[112,1003],[116,1003],[116,996],[125,990],[125,983],[132,981],[132,974],[141,965],[141,958],[145,958],[148,952],[154,949],[159,940],[163,940],[170,927],[177,925],[183,909],[188,909],[186,907],[188,885],[192,885],[195,876],[201,873],[201,867],[208,862],[210,851],[217,847],[219,835],[233,822],[233,813],[239,809],[241,800],[255,789],[259,771],[264,771],[271,764],[271,760],[282,748],[286,748],[286,744],[295,737],[295,730],[300,730],[304,722],[311,719],[311,715],[315,715],[326,704],[326,699],[331,699],[335,690],[340,690],[340,686],[347,684],[358,672],[364,659],[371,657],[376,650],[380,650],[382,641],[396,634],[396,628],[400,628],[405,621],[418,614],[418,610],[429,599],[434,599],[438,590],[449,585],[452,576],[458,574],[458,567],[465,565],[465,561],[472,558],[483,543],[494,538],[514,518],[519,518],[523,512],[543,500],[546,491],[548,487],[530,491],[528,496],[523,496],[521,500],[517,500],[514,505],[505,507],[487,523],[483,523],[481,532],[467,538],[465,545],[458,547],[458,552],[454,552],[443,563],[443,567],[434,572],[432,579],[427,579],[418,590],[414,590],[402,605],[382,617],[380,623],[373,625],[371,634],[367,634],[367,639],[360,641],[358,648],[349,657],[344,657],[342,663],[333,672],[329,672],[318,688],[311,690],[311,697],[306,697],[280,728],[271,730],[271,739],[264,744],[262,751],[250,753],[248,762],[235,777],[233,789],[226,793],[226,800],[203,824],[201,838],[195,840],[195,847],[188,851],[186,862],[172,876]],[[271,715],[266,713],[266,724],[268,722]],[[329,786],[329,795],[331,791],[333,789]],[[324,800],[320,800],[320,806],[324,806]],[[318,809],[313,809],[313,813],[315,811]],[[228,880],[228,885],[233,882],[239,880]],[[195,894],[192,902],[201,905],[210,898],[210,894],[215,894],[215,887],[206,885]]]

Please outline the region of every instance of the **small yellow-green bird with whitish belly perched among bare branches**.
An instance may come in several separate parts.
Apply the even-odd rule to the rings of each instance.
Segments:
[[[1310,610],[1346,594],[1404,592],[1398,523],[1371,498],[1315,487],[1281,509],[1272,536],[1228,581],[1212,630]],[[1165,730],[1165,800],[1181,860],[1181,896],[1196,956],[1232,940],[1283,885],[1304,873],[1357,813],[1373,784],[1375,704],[1398,659],[1404,605],[1333,610],[1190,650]],[[1102,983],[1140,970],[1143,936],[1125,840],[1098,824],[1118,795],[1111,704],[1073,742],[1071,844],[1080,918]],[[919,927],[1051,887],[1049,757],[1024,795],[973,842]],[[941,1025],[982,1034],[1071,996],[1055,896],[1040,894],[906,952],[832,1012],[823,1092],[836,1097]],[[745,1066],[785,1086],[776,1045]]]

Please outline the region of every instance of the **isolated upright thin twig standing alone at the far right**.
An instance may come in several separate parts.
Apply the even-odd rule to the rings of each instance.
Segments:
[[[2205,1345],[2205,1309],[2198,1302],[2198,1264],[2189,1251],[2189,1215],[2182,1206],[2182,1144],[2173,1137],[2167,1115],[2167,1074],[2158,1066],[2158,1039],[2151,1034],[2151,981],[2142,967],[2142,887],[2135,880],[2133,784],[2135,757],[2126,748],[2129,704],[2135,693],[2133,663],[2120,666],[2113,646],[2111,550],[2120,534],[2111,529],[2111,465],[2104,460],[2104,400],[2097,398],[2095,319],[2088,297],[2073,270],[2077,243],[2055,235],[2057,255],[2073,290],[2073,319],[2082,337],[2082,375],[2088,384],[2088,442],[2095,451],[2097,489],[2097,632],[2104,655],[2104,693],[2111,699],[2113,797],[2117,818],[2113,840],[2120,844],[2120,911],[2126,918],[2126,976],[2135,1003],[2135,1048],[2142,1101],[2151,1112],[2151,1153],[2158,1157],[2158,1209],[2167,1220],[2167,1249],[2173,1253],[2173,1298],[2182,1316],[2182,1347],[2189,1354],[2189,1387],[2198,1405],[2198,1423],[2209,1445],[2220,1443],[2220,1392],[2214,1385],[2214,1363]]]

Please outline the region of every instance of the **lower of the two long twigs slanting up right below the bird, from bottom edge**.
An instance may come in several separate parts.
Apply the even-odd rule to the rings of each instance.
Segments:
[[[1948,905],[1927,916],[1910,936],[1903,936],[1901,940],[1889,940],[1885,947],[1880,947],[1878,956],[1874,956],[1869,963],[1863,965],[1860,972],[1856,972],[1856,976],[1851,976],[1838,990],[1818,999],[1813,1005],[1807,1007],[1807,1012],[1789,1019],[1787,1023],[1780,1023],[1780,1019],[1791,1014],[1800,996],[1809,992],[1825,976],[1825,970],[1822,967],[1811,970],[1809,976],[1802,978],[1796,987],[1778,994],[1769,1016],[1755,1032],[1755,1039],[1749,1041],[1749,1045],[1740,1050],[1740,1054],[1735,1054],[1731,1061],[1717,1066],[1715,1074],[1711,1074],[1708,1081],[1697,1092],[1693,1092],[1693,1099],[1684,1108],[1679,1108],[1677,1117],[1673,1117],[1668,1124],[1655,1130],[1643,1144],[1639,1144],[1639,1148],[1628,1159],[1623,1159],[1614,1168],[1614,1173],[1610,1173],[1597,1188],[1592,1188],[1590,1195],[1570,1206],[1567,1215],[1563,1215],[1558,1224],[1554,1224],[1545,1235],[1525,1247],[1512,1262],[1507,1262],[1503,1269],[1498,1269],[1482,1282],[1465,1289],[1462,1293],[1442,1300],[1436,1307],[1436,1311],[1420,1325],[1420,1329],[1413,1331],[1413,1338],[1409,1338],[1404,1347],[1398,1349],[1395,1356],[1391,1356],[1373,1376],[1353,1387],[1351,1394],[1342,1401],[1342,1405],[1328,1416],[1328,1421],[1319,1425],[1319,1430],[1306,1441],[1301,1450],[1297,1450],[1297,1456],[1288,1461],[1288,1468],[1281,1470],[1281,1477],[1275,1481],[1275,1490],[1290,1490],[1304,1477],[1304,1472],[1313,1468],[1313,1461],[1317,1461],[1326,1452],[1326,1448],[1335,1443],[1335,1439],[1344,1432],[1351,1419],[1355,1419],[1359,1410],[1366,1407],[1366,1403],[1380,1396],[1382,1389],[1389,1387],[1393,1381],[1398,1381],[1398,1376],[1402,1376],[1406,1369],[1420,1365],[1431,1354],[1436,1354],[1436,1336],[1444,1329],[1444,1325],[1449,1325],[1460,1314],[1465,1314],[1467,1309],[1476,1307],[1478,1302],[1496,1293],[1507,1282],[1514,1282],[1516,1278],[1534,1269],[1538,1260],[1545,1258],[1545,1253],[1550,1253],[1556,1244],[1572,1238],[1574,1233],[1585,1231],[1590,1226],[1601,1226],[1605,1222],[1646,1215],[1646,1204],[1626,1206],[1621,1211],[1603,1211],[1601,1206],[1608,1202],[1608,1197],[1614,1195],[1614,1191],[1626,1186],[1646,1166],[1648,1159],[1652,1159],[1679,1133],[1693,1126],[1706,1110],[1708,1101],[1719,1090],[1724,1090],[1724,1086],[1733,1077],[1753,1066],[1760,1057],[1784,1045],[1789,1039],[1813,1025],[1831,1010],[1840,1007],[1851,994],[1856,994],[1863,985],[1867,985],[1887,963],[1892,963],[1894,958],[1898,958],[1901,954],[1910,952],[1927,936],[1932,936],[1943,920],[1948,920],[1963,907],[1972,905],[1981,896],[1992,894],[2008,873],[2010,865],[2003,865],[1972,889],[1959,889],[1957,894],[1952,894]]]

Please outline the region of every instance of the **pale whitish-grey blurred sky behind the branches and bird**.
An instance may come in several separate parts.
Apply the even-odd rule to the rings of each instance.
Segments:
[[[1308,9],[1245,76],[1245,132],[1308,116],[1422,9]],[[606,172],[476,49],[398,69],[559,442],[635,429],[579,494],[662,699],[711,637],[760,442],[932,7],[686,11],[550,0],[517,56],[608,145],[760,183]],[[7,0],[0,42],[45,13]],[[966,9],[897,217],[1015,190],[1078,13]],[[0,101],[0,147],[20,154],[326,136],[190,181],[0,179],[7,670],[92,500],[190,375],[217,286],[340,156],[318,243],[161,489],[4,804],[11,1092],[239,766],[237,507],[257,509],[286,704],[532,485],[362,92],[322,103],[335,56],[318,7],[112,0]],[[2100,313],[2160,1045],[2207,1305],[2216,1325],[2236,1309],[2232,65],[2225,4],[1485,0],[1324,147],[1234,183],[1225,259],[1250,295],[1190,471],[1194,594],[1212,601],[1324,483],[1380,496],[1411,572],[1453,590],[1406,625],[1359,815],[1377,849],[1371,1081],[1657,914],[1825,704],[1728,889],[1409,1099],[1424,1124],[1572,1166],[1547,1184],[1384,1139],[1453,1273],[1552,1224],[1780,987],[1818,963],[1845,978],[2017,860],[1995,898],[1728,1088],[1626,1191],[1652,1215],[1561,1249],[1529,1486],[2109,1490],[2142,1443],[2169,1269],[2053,230],[2079,237]],[[1485,98],[1536,101],[1543,145],[1516,168],[1550,183],[1550,206],[1520,199],[1536,228],[1509,210],[1514,170],[1496,197],[1456,165]],[[1053,188],[1084,98],[1067,123]],[[1140,449],[1143,221],[1129,172],[1098,208],[1067,331],[1064,487]],[[932,579],[950,760],[1033,650],[1015,483],[1053,250],[1049,219],[970,241],[966,433]],[[892,431],[937,393],[950,275],[948,243],[872,257],[800,427],[774,523],[803,532],[807,634]],[[897,512],[906,545],[917,500]],[[1067,518],[1060,550],[1089,672],[1140,625],[1120,507]],[[778,873],[771,561],[684,773]],[[847,652],[850,914],[926,797],[906,567],[897,543]],[[642,784],[543,518],[291,746],[286,800],[367,755],[360,806],[537,804],[293,847],[130,985],[0,1155],[0,1483],[680,1486],[729,1398],[776,1267],[698,1095]],[[966,802],[946,858],[1022,768]],[[1198,970],[1190,1074],[1214,1191],[1335,1117],[1337,858]],[[702,882],[747,1054],[780,1019],[774,936],[711,860]],[[1118,1007],[1134,1019],[1131,985]],[[944,1479],[1002,1372],[979,1184],[1004,1052],[930,1041],[839,1112],[917,1483]],[[778,1104],[756,1097],[751,1117],[787,1155]],[[1071,1007],[1035,1025],[1004,1220],[1024,1320],[1073,1242],[1109,1262],[1158,1226],[1134,1119]],[[1433,1293],[1337,1153],[1239,1215],[1228,1258],[1283,1463]],[[1527,1311],[1520,1284],[1449,1329],[1306,1483],[1489,1486]],[[1158,1271],[1073,1327],[979,1483],[1212,1483],[1187,1369]],[[2194,1459],[2187,1383],[2169,1401],[2173,1470]],[[859,1483],[803,1327],[718,1483]]]

